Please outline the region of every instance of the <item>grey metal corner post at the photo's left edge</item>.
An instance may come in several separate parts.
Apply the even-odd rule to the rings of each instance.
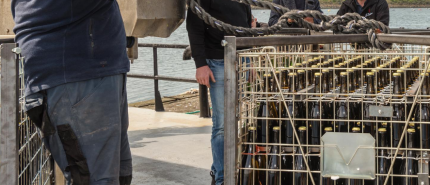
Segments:
[[[0,184],[18,184],[19,56],[16,44],[1,50]]]

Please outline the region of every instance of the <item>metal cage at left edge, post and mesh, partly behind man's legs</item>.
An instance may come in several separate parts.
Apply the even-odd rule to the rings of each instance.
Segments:
[[[1,45],[1,75],[0,184],[53,184],[55,163],[23,110],[24,72],[16,44]]]

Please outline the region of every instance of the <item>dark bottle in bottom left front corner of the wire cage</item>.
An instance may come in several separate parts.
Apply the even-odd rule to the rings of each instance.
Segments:
[[[256,135],[256,128],[248,128],[248,143],[254,142],[254,137]],[[245,168],[242,173],[242,185],[259,185],[258,172],[257,170],[252,170],[252,168],[258,168],[258,163],[254,157],[255,145],[248,144],[245,153],[242,155],[242,167]],[[248,168],[248,169],[247,169]]]

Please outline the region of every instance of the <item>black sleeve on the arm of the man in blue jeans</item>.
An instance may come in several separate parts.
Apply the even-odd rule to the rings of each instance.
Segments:
[[[200,6],[206,11],[210,7],[210,0],[200,0]],[[205,28],[206,25],[196,14],[191,11],[191,7],[187,12],[187,31],[190,40],[192,57],[196,63],[196,68],[206,66],[206,50],[205,50]]]

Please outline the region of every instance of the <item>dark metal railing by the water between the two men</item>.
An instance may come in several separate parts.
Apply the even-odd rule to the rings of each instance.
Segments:
[[[158,48],[186,49],[188,47],[188,45],[139,43],[138,46],[139,47],[152,48],[154,75],[128,73],[127,77],[141,78],[141,79],[153,79],[154,80],[155,111],[164,111],[163,101],[161,99],[161,94],[160,94],[159,87],[158,87],[158,80],[187,82],[187,83],[197,83],[197,81],[195,79],[190,79],[190,78],[179,78],[179,77],[158,75]],[[204,85],[199,85],[199,103],[200,103],[200,117],[202,117],[202,118],[211,117],[209,99],[208,99],[208,88]]]

